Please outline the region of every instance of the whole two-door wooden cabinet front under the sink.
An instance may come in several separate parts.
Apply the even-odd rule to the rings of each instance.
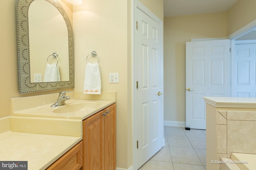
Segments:
[[[82,170],[116,169],[116,104],[84,119]]]

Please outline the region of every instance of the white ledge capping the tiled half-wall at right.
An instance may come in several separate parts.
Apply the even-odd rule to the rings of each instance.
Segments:
[[[256,98],[203,97],[207,104],[215,107],[256,108]]]

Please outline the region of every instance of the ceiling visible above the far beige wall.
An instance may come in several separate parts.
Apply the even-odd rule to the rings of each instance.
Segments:
[[[164,16],[225,12],[237,0],[164,0]]]

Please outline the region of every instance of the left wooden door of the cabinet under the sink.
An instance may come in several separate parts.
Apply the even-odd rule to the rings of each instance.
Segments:
[[[83,121],[84,161],[83,170],[103,169],[104,117],[102,111]]]

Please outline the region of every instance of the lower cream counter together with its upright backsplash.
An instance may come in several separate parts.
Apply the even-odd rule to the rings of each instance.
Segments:
[[[1,118],[0,160],[28,161],[28,170],[45,170],[82,140],[81,126],[80,120]]]

